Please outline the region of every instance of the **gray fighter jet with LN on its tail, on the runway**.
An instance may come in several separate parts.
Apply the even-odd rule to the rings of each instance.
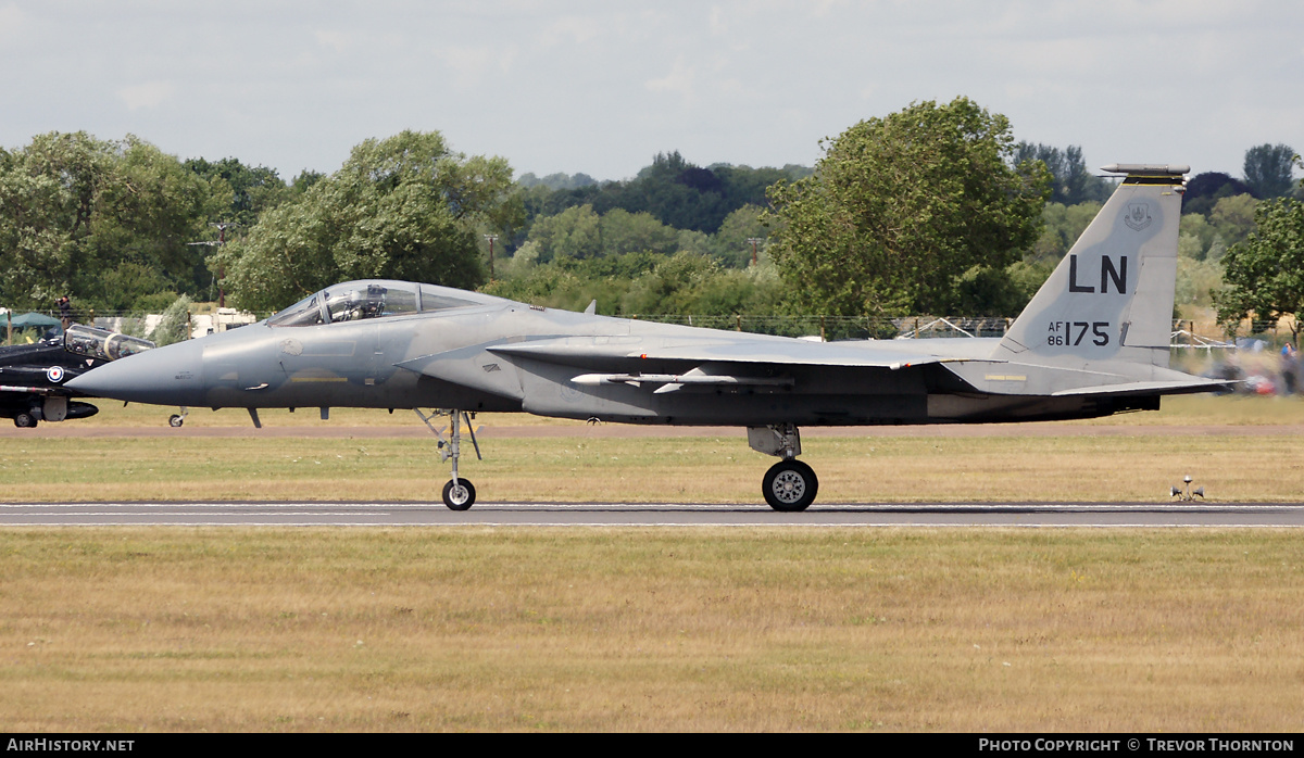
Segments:
[[[330,287],[265,322],[158,348],[68,387],[159,405],[442,409],[449,508],[473,413],[737,425],[777,456],[762,491],[802,511],[819,486],[799,426],[1093,418],[1223,383],[1168,369],[1185,165],[1108,165],[1119,189],[1001,339],[805,340],[606,318],[430,284]],[[472,443],[475,436],[472,434]],[[479,445],[476,445],[479,455]]]

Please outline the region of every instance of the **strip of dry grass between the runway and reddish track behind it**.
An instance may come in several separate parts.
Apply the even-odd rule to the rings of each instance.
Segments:
[[[583,430],[578,430],[583,434]],[[1299,501],[1294,434],[810,438],[819,503],[1170,500],[1185,474],[1210,501]],[[10,439],[0,501],[439,501],[433,440],[349,438]],[[742,435],[502,438],[460,473],[482,503],[760,503],[773,458]],[[760,505],[763,507],[763,505]]]

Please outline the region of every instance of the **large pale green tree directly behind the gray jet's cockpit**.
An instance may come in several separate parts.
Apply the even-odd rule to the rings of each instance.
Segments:
[[[454,152],[438,132],[368,139],[300,199],[266,211],[213,266],[224,266],[232,301],[250,310],[347,279],[469,289],[485,276],[480,229],[519,219],[511,189],[505,159]]]

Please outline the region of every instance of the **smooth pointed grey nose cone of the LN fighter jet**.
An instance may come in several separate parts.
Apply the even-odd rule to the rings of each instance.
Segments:
[[[203,404],[203,345],[188,340],[93,369],[64,387],[94,397],[155,405]]]

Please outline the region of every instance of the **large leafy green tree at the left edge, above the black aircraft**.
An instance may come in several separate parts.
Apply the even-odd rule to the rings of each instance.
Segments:
[[[194,292],[202,253],[188,242],[211,201],[206,181],[132,135],[53,132],[0,151],[0,297],[48,310],[69,294],[104,311]]]

